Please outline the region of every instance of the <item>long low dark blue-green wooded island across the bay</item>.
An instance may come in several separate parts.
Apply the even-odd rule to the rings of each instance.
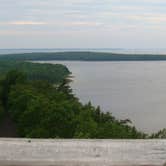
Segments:
[[[104,52],[20,53],[0,55],[0,60],[165,61],[166,55]]]

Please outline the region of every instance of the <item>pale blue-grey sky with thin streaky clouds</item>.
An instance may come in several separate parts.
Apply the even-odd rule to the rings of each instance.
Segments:
[[[166,1],[0,0],[0,48],[166,48]]]

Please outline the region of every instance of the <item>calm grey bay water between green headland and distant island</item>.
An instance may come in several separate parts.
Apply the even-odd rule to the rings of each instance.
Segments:
[[[46,63],[46,62],[44,62]],[[130,118],[145,132],[166,127],[166,62],[74,62],[65,64],[74,76],[74,93],[117,118]]]

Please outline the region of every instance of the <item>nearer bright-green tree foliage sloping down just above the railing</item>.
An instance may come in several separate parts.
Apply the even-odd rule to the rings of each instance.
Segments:
[[[20,71],[6,74],[1,105],[16,124],[20,137],[30,138],[145,138],[128,120],[120,121],[72,94],[68,80],[29,80]],[[1,110],[1,109],[0,109]]]

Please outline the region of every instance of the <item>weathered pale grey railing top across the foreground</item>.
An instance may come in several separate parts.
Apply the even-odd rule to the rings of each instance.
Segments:
[[[0,166],[163,165],[166,140],[0,139]]]

